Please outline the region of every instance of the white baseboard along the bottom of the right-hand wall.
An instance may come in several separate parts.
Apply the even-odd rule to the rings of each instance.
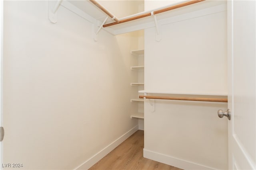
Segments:
[[[146,149],[143,149],[143,157],[152,159],[152,160],[164,163],[164,164],[168,164],[171,166],[175,166],[177,168],[181,168],[184,170],[214,170],[215,169],[215,168],[211,168],[208,166],[196,164],[194,162],[188,162],[186,160],[174,158],[172,156],[153,152],[151,150],[146,150]]]

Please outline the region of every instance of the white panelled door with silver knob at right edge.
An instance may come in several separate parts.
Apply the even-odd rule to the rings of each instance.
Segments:
[[[229,169],[256,169],[256,2],[228,1]]]

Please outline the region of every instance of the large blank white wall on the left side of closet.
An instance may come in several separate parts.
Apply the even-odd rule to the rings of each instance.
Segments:
[[[125,3],[122,15],[131,12]],[[136,13],[136,11],[132,12]],[[4,1],[4,154],[18,169],[74,169],[138,125],[130,119],[130,50],[47,1]],[[137,127],[138,128],[138,127]],[[12,168],[13,169],[13,168]]]

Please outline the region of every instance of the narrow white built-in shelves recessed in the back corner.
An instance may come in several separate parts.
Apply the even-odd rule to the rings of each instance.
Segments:
[[[131,66],[132,75],[134,75],[134,82],[131,82],[133,88],[131,118],[144,119],[144,99],[138,97],[138,91],[144,90],[144,50],[134,50],[131,54],[135,57],[134,66]]]

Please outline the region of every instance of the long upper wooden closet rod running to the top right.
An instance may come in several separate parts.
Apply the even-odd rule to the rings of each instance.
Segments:
[[[144,18],[144,17],[147,17],[147,16],[152,16],[152,14],[153,15],[160,14],[162,12],[174,10],[176,8],[181,8],[183,6],[188,6],[188,5],[195,4],[195,3],[201,2],[201,1],[205,1],[205,0],[190,0],[188,2],[183,2],[183,3],[180,3],[180,4],[174,5],[174,6],[169,6],[169,7],[166,7],[166,8],[162,8],[160,10],[147,12],[145,14],[140,14],[138,16],[133,16],[133,17],[130,17],[130,18],[126,18],[126,19],[120,20],[119,22],[107,23],[107,24],[104,24],[103,27],[109,27],[109,26],[112,26],[112,25],[116,25],[118,23],[124,23],[124,22],[132,21],[132,20],[137,20],[137,19]]]

